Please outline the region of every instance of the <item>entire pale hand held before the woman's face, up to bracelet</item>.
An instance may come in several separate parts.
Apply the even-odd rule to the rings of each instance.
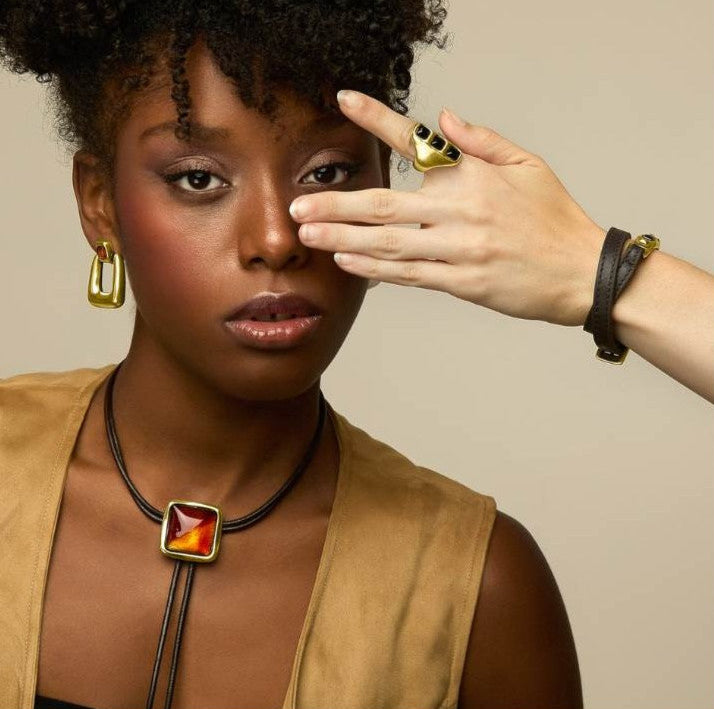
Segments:
[[[413,119],[366,94],[346,94],[354,99],[340,101],[348,118],[414,159]],[[489,128],[460,125],[446,110],[439,127],[463,152],[457,166],[429,170],[413,192],[303,195],[291,205],[291,213],[307,207],[293,213],[303,222],[301,241],[336,252],[341,268],[364,278],[445,291],[514,317],[582,325],[605,230],[537,155]]]

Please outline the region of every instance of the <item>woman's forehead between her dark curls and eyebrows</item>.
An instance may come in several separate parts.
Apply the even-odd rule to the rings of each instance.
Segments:
[[[213,54],[197,42],[186,57],[186,79],[190,96],[192,141],[225,140],[285,141],[300,146],[311,134],[364,132],[339,111],[320,111],[290,88],[274,89],[277,112],[273,120],[248,108],[233,81],[221,71]],[[335,104],[334,98],[331,103]],[[120,139],[148,141],[172,139],[176,127],[176,104],[171,97],[168,69],[157,70],[155,80],[132,102],[119,130]]]

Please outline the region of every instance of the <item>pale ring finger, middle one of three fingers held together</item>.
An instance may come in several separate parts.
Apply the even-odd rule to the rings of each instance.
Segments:
[[[359,253],[390,261],[458,260],[459,245],[446,235],[435,238],[433,230],[405,227],[358,226],[354,224],[303,224],[298,232],[306,246],[325,251]]]

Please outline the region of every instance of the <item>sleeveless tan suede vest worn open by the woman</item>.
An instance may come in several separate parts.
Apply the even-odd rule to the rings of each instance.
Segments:
[[[0,381],[0,708],[32,709],[65,473],[115,365]],[[335,501],[283,709],[453,709],[496,507],[331,406]]]

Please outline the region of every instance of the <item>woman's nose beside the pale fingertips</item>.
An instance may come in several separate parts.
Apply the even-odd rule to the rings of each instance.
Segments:
[[[310,249],[298,237],[299,224],[288,211],[295,194],[276,189],[275,184],[257,190],[241,210],[245,219],[237,230],[238,257],[246,270],[271,271],[302,268]]]

